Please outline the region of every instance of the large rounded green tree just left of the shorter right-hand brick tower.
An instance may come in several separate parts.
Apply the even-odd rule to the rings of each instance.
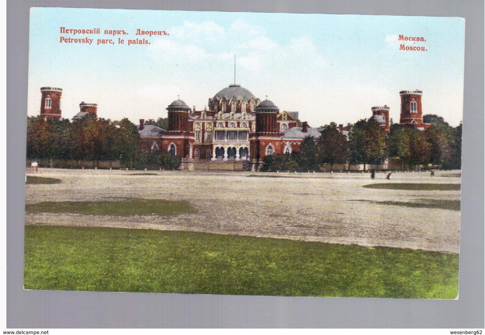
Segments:
[[[350,133],[350,161],[354,164],[382,164],[387,158],[387,136],[374,118],[359,120]]]

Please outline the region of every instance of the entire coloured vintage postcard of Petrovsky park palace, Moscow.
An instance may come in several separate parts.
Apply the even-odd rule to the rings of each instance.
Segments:
[[[458,299],[461,17],[34,7],[24,289]]]

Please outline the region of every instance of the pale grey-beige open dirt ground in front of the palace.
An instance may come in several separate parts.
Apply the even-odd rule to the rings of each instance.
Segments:
[[[458,211],[369,204],[362,201],[459,200],[460,191],[398,191],[363,188],[371,183],[460,183],[454,172],[293,174],[248,177],[249,172],[40,169],[60,184],[26,185],[26,204],[100,201],[113,197],[187,200],[195,214],[177,217],[113,217],[26,213],[26,224],[103,226],[202,231],[306,241],[459,252]],[[276,174],[258,174],[276,175]],[[113,199],[116,200],[116,199]]]

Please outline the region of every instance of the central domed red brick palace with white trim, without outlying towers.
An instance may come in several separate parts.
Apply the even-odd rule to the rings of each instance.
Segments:
[[[305,137],[320,136],[319,128],[297,127],[298,112],[280,112],[237,84],[209,98],[209,109],[196,111],[178,99],[166,109],[168,129],[140,120],[140,146],[166,151],[182,158],[192,170],[199,160],[245,161],[246,169],[259,170],[267,155],[300,150]]]

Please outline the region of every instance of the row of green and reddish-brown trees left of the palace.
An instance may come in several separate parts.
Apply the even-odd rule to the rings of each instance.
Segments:
[[[150,153],[138,147],[137,127],[124,118],[110,121],[87,114],[82,120],[27,120],[29,160],[119,160],[135,169],[177,169],[180,159],[170,153]]]

